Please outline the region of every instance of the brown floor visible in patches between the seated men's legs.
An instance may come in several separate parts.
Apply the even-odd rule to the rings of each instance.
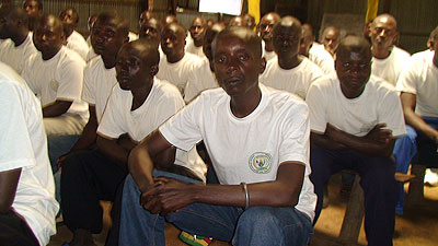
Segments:
[[[338,246],[336,237],[341,231],[347,198],[339,195],[341,178],[335,175],[328,185],[331,204],[324,209],[315,225],[315,235],[310,246]],[[425,202],[419,208],[406,208],[404,215],[395,221],[394,246],[437,246],[438,245],[438,187],[425,187]],[[107,207],[107,204],[105,204]],[[107,207],[108,208],[108,207]],[[106,212],[106,211],[105,211]],[[110,216],[106,213],[105,230],[95,239],[99,246],[104,245]],[[168,224],[165,229],[166,246],[185,246],[177,236],[180,231]],[[62,225],[51,237],[49,246],[60,246],[71,239],[71,233]],[[364,226],[357,245],[367,245]],[[211,246],[229,246],[226,242],[215,241]]]

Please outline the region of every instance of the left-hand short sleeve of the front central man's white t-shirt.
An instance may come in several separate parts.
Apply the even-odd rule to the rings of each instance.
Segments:
[[[196,97],[159,128],[172,145],[189,151],[203,139],[200,131],[203,103],[204,96]]]

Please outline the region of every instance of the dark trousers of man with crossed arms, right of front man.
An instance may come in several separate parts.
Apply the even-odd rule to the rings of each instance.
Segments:
[[[392,157],[377,157],[356,151],[328,151],[312,148],[310,151],[312,174],[310,178],[318,196],[315,219],[321,213],[324,184],[342,169],[354,169],[360,176],[365,196],[365,232],[372,246],[392,245],[395,224],[395,203],[399,191],[394,178],[395,163]]]

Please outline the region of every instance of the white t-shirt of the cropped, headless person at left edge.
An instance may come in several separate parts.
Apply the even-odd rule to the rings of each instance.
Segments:
[[[24,80],[0,62],[0,172],[22,168],[12,203],[39,245],[56,233],[55,183],[41,105]]]

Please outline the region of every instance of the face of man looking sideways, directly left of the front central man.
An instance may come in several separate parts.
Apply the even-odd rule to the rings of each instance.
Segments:
[[[117,54],[116,78],[122,90],[131,91],[145,86],[151,77],[151,66],[148,58],[135,46],[127,44],[122,46]]]

